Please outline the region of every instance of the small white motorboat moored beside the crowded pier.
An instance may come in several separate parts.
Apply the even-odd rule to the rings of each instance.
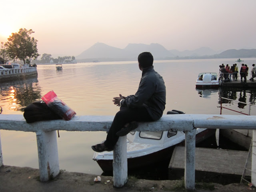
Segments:
[[[200,80],[202,77],[202,80]],[[217,73],[206,72],[198,74],[196,79],[196,88],[212,88],[219,86],[219,78]]]

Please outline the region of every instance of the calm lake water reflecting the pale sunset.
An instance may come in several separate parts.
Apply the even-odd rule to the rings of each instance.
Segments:
[[[186,114],[220,114],[220,96],[255,104],[256,90],[199,90],[195,82],[200,72],[219,72],[222,63],[232,65],[236,59],[159,60],[154,69],[166,84],[166,110],[176,109]],[[244,59],[250,67],[256,58]],[[238,64],[240,69],[241,64]],[[135,94],[141,78],[137,61],[38,65],[38,78],[10,83],[0,82],[2,114],[23,114],[28,104],[54,90],[58,98],[77,115],[112,115],[119,110],[112,98]],[[249,74],[250,76],[250,74]],[[248,113],[249,106],[226,102],[225,106]],[[222,114],[237,114],[224,110]],[[256,115],[254,107],[251,115]],[[60,131],[58,152],[60,169],[72,172],[101,174],[92,160],[91,146],[102,142],[106,132]],[[5,165],[38,168],[36,134],[1,130],[2,154]]]

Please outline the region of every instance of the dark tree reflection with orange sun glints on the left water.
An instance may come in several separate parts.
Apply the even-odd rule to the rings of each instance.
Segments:
[[[1,83],[0,90],[1,110],[4,108],[10,111],[23,112],[28,104],[41,98],[41,88],[37,77]]]

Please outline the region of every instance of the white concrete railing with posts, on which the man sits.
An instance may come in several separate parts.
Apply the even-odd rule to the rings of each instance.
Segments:
[[[75,116],[70,121],[51,120],[27,124],[22,115],[0,115],[0,130],[36,132],[40,180],[47,181],[59,174],[56,130],[107,131],[114,116]],[[178,130],[185,132],[185,188],[195,188],[195,128],[252,129],[252,152],[256,154],[256,116],[180,114],[163,115],[156,122],[140,122],[136,131]],[[114,148],[113,181],[115,187],[127,182],[126,136]],[[0,166],[2,149],[0,144]],[[252,157],[252,184],[256,186],[256,157]]]

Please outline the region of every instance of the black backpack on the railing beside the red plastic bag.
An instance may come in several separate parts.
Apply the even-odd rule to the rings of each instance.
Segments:
[[[24,118],[27,123],[33,123],[43,120],[62,119],[58,114],[52,111],[44,101],[35,101],[24,108]]]

